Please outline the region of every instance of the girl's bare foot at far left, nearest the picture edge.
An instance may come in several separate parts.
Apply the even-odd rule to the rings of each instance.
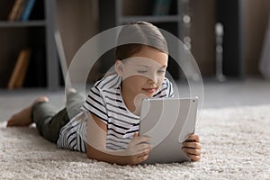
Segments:
[[[31,108],[34,104],[40,102],[48,102],[49,99],[46,96],[40,96],[28,107],[24,108],[21,112],[15,113],[8,121],[6,126],[29,126],[32,123]]]

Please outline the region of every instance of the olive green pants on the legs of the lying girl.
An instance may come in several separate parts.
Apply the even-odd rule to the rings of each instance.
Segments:
[[[81,112],[80,108],[84,102],[85,99],[81,94],[70,93],[67,94],[67,106],[59,112],[49,102],[41,102],[33,106],[31,117],[36,123],[40,135],[51,142],[57,143],[59,131],[72,117]]]

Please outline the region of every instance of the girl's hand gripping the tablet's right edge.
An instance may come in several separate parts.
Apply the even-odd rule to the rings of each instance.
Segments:
[[[201,149],[200,139],[197,134],[190,135],[184,142],[183,148],[184,152],[192,161],[199,161],[201,158]]]

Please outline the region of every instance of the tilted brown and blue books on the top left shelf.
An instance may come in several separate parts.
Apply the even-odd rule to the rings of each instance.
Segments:
[[[11,22],[27,21],[34,4],[35,0],[15,0],[13,8],[8,15],[8,20]]]

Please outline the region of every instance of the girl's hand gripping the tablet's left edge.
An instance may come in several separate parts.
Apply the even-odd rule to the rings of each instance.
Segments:
[[[130,165],[137,165],[148,158],[152,149],[151,139],[148,136],[138,136],[135,133],[133,139],[126,149],[126,156],[129,158]]]

